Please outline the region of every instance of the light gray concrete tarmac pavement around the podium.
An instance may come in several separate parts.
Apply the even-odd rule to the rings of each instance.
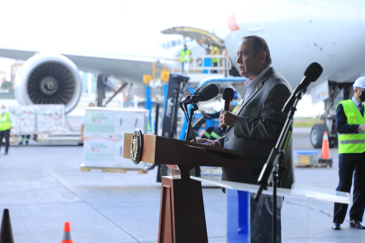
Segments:
[[[309,128],[294,128],[294,149],[313,149],[309,133]],[[161,183],[155,169],[147,174],[81,172],[82,146],[34,141],[12,145],[9,155],[3,154],[1,146],[0,210],[9,209],[15,243],[60,242],[65,221],[75,243],[157,242]],[[296,168],[296,182],[334,190],[337,148],[330,155],[332,168]],[[225,194],[203,185],[208,240],[226,242]],[[285,198],[282,242],[365,242],[365,230],[349,227],[348,213],[339,231],[331,229],[332,220],[331,202]]]

